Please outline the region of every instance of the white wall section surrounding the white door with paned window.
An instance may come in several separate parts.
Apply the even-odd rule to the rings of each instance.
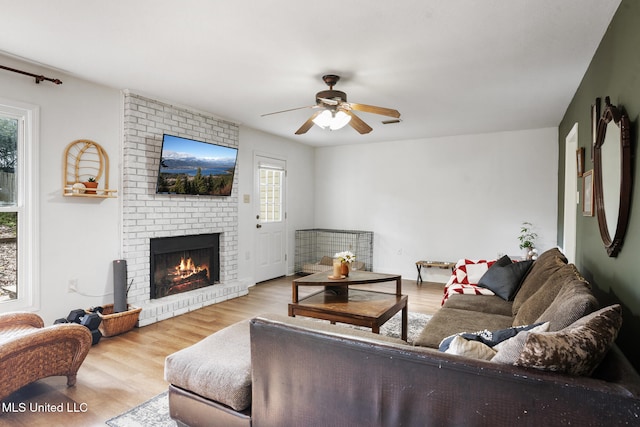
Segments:
[[[238,278],[254,284],[256,214],[259,204],[253,197],[255,153],[282,158],[287,162],[287,271],[293,273],[295,230],[314,226],[315,150],[293,140],[240,126],[240,185],[238,192]],[[249,203],[244,196],[249,195]],[[283,272],[284,274],[284,272]]]

